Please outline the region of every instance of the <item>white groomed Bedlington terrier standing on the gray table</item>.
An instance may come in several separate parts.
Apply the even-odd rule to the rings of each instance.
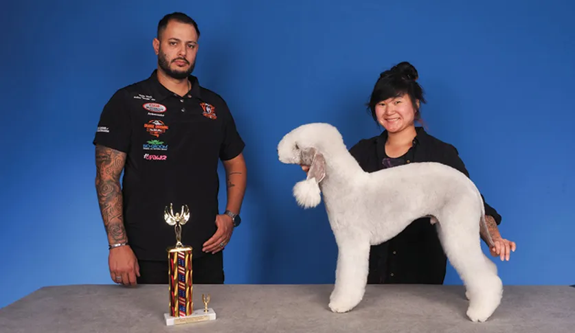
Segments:
[[[483,200],[465,174],[432,162],[364,172],[337,128],[324,123],[304,124],[286,134],[278,143],[278,157],[282,163],[310,165],[307,179],[293,187],[298,205],[315,207],[323,194],[338,248],[332,312],[352,310],[363,299],[370,246],[424,216],[436,225],[444,252],[464,283],[467,317],[486,321],[497,309],[503,284],[497,266],[482,252]]]

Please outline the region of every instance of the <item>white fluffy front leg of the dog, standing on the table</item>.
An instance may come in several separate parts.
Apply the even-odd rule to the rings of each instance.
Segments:
[[[368,282],[370,243],[367,239],[350,238],[338,241],[335,287],[329,308],[347,312],[363,299]]]

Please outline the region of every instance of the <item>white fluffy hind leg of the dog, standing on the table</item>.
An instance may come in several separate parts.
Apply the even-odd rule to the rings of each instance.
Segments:
[[[501,302],[503,285],[495,264],[481,250],[479,220],[467,217],[473,215],[466,211],[442,216],[436,227],[445,254],[466,287],[467,317],[486,321]]]

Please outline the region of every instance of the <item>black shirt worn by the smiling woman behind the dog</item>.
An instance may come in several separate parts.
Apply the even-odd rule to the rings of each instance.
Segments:
[[[365,172],[376,172],[404,163],[431,161],[449,165],[469,177],[454,146],[429,135],[423,128],[416,130],[413,146],[397,159],[390,159],[385,154],[387,131],[370,139],[362,139],[350,148],[350,153]],[[485,214],[493,216],[499,225],[501,216],[485,200],[484,206]],[[446,267],[447,257],[435,226],[431,225],[429,218],[420,218],[391,240],[371,247],[368,283],[443,284]]]

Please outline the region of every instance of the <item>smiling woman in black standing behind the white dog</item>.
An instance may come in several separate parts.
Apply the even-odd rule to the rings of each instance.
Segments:
[[[381,73],[368,106],[375,122],[385,130],[376,137],[362,139],[350,153],[365,172],[433,161],[469,176],[454,146],[415,126],[421,120],[420,103],[425,103],[417,79],[418,73],[409,62]],[[308,166],[302,168],[308,171]],[[491,254],[509,260],[515,242],[501,238],[497,229],[501,216],[485,200],[484,205],[488,230],[495,242]],[[486,240],[486,235],[481,237]],[[435,227],[429,218],[420,218],[391,240],[371,247],[368,284],[443,284],[446,266],[447,257]]]

